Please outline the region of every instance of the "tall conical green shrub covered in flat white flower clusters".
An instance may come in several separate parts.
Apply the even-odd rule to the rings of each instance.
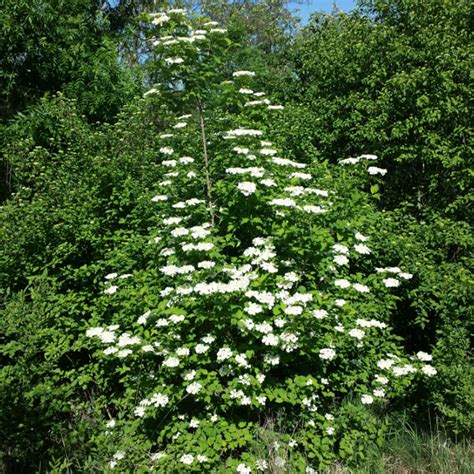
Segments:
[[[389,327],[394,292],[412,275],[376,268],[368,199],[340,195],[326,167],[275,144],[284,107],[252,89],[253,72],[229,70],[224,29],[176,9],[147,20],[157,83],[143,107],[170,111],[148,197],[156,227],[144,264],[124,272],[117,257],[104,268],[79,341],[110,391],[97,402],[107,468],[243,474],[351,462],[380,435],[365,405],[436,374]],[[254,436],[280,413],[284,432],[257,457]]]

